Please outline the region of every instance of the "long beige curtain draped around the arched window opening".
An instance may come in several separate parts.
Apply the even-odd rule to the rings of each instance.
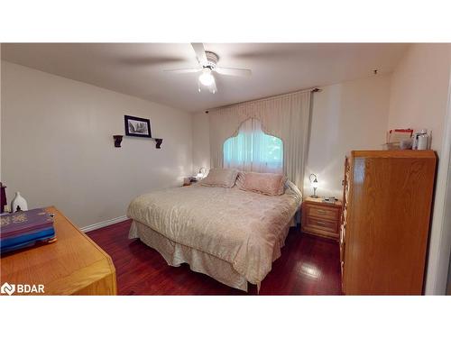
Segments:
[[[311,91],[300,91],[210,110],[210,167],[224,168],[224,142],[236,136],[241,123],[253,118],[262,131],[283,142],[283,173],[299,189],[307,162]]]

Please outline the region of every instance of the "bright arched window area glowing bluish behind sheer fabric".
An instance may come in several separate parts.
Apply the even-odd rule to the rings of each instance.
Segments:
[[[283,143],[264,133],[259,120],[248,119],[235,137],[224,142],[224,168],[281,173]]]

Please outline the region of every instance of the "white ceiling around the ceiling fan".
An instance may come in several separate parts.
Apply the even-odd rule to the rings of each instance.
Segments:
[[[394,43],[205,43],[218,66],[251,78],[216,75],[217,93],[198,93],[198,75],[163,69],[198,65],[189,43],[4,43],[2,59],[197,112],[308,87],[390,73],[407,49]]]

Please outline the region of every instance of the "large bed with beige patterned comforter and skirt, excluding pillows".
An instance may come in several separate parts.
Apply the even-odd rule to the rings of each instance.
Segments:
[[[247,291],[249,282],[260,289],[296,224],[301,199],[290,181],[281,196],[200,184],[161,190],[133,199],[129,238],[159,251],[171,266],[188,263],[229,287]]]

